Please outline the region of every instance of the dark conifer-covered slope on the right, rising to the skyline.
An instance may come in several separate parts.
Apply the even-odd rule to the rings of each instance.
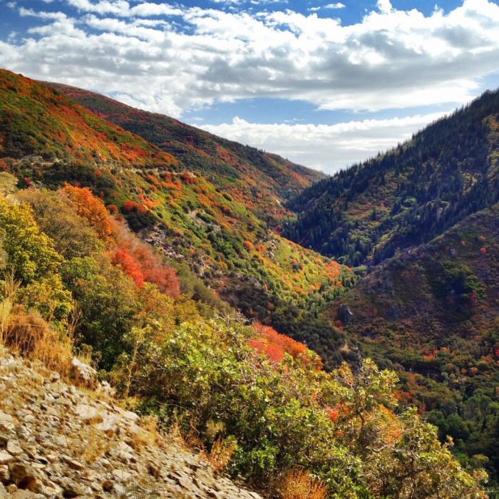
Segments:
[[[499,199],[499,91],[289,202],[283,234],[350,265],[428,242]]]

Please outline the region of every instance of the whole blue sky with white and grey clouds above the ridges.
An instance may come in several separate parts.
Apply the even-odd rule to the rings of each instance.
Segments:
[[[499,0],[0,0],[0,67],[325,173],[499,86]]]

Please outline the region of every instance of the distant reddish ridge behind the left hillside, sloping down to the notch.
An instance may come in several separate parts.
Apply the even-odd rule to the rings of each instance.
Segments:
[[[158,113],[126,106],[98,93],[46,83],[65,96],[177,158],[221,187],[259,218],[274,223],[290,215],[282,202],[325,175],[247,145],[217,137]]]

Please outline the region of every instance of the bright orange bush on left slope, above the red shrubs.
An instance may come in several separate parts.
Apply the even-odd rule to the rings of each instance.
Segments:
[[[63,192],[66,192],[75,205],[78,215],[88,220],[99,237],[108,240],[112,230],[104,203],[94,196],[88,187],[76,187],[66,184],[63,187]]]

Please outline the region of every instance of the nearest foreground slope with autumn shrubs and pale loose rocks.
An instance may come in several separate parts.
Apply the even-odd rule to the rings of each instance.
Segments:
[[[88,188],[15,184],[0,173],[0,350],[23,356],[0,356],[0,481],[12,497],[248,496],[165,447],[156,426],[272,498],[485,498],[483,471],[468,473],[399,405],[393,372],[369,359],[326,372],[209,289],[210,303],[182,292],[195,277]],[[41,376],[25,369],[40,364]],[[145,428],[103,401],[89,364]]]

